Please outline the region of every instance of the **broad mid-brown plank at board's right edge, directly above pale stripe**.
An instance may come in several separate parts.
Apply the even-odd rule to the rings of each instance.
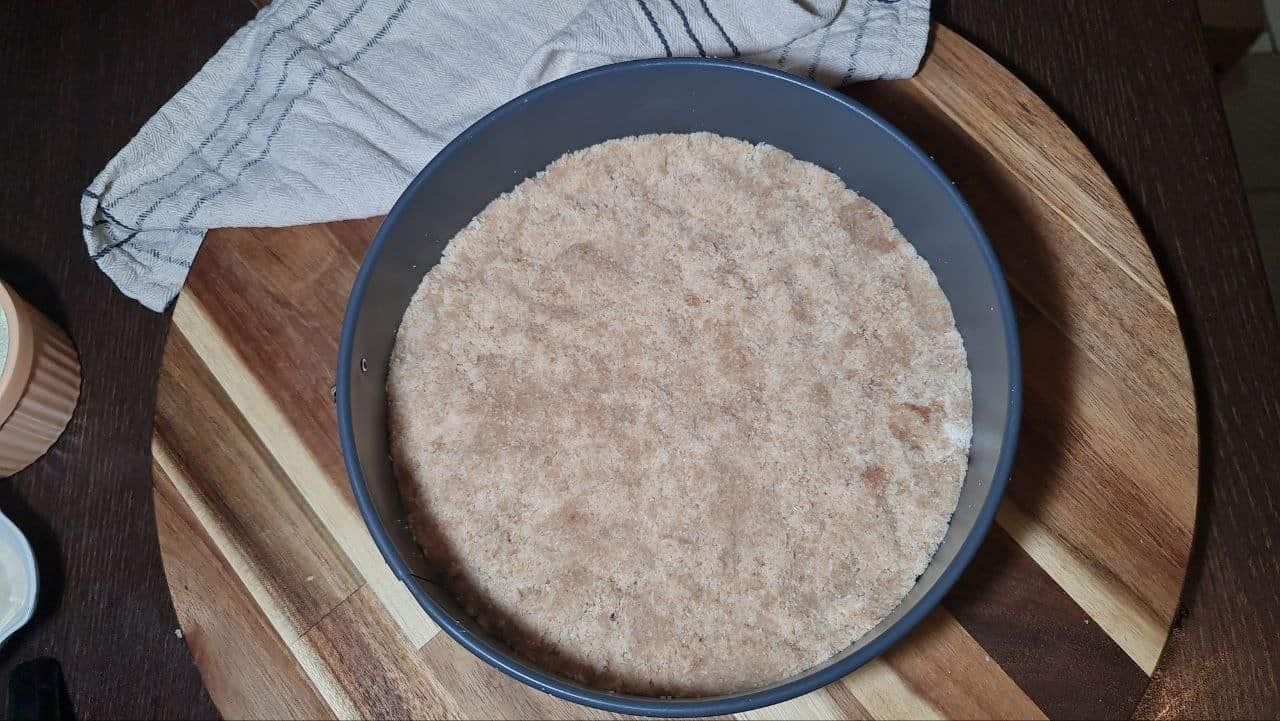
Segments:
[[[1015,306],[1027,370],[1010,496],[1123,579],[1167,628],[1196,512],[1194,466],[1187,467],[1194,432],[1184,435],[1019,295]]]

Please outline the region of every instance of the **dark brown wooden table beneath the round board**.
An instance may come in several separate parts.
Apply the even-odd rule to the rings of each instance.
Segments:
[[[1183,318],[1202,499],[1184,613],[1143,716],[1280,715],[1280,327],[1189,0],[934,0],[1089,143]],[[165,592],[148,444],[168,316],[83,252],[92,175],[252,15],[246,0],[10,4],[0,23],[0,277],[69,328],[84,388],[54,451],[0,482],[37,547],[37,621],[0,649],[54,656],[81,717],[210,717]],[[1062,674],[1070,674],[1062,668]],[[3,692],[0,692],[3,694]],[[3,708],[3,707],[0,707]]]

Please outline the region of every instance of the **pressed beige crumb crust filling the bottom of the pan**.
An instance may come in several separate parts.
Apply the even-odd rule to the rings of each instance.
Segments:
[[[822,663],[924,570],[970,380],[928,264],[836,175],[709,133],[494,200],[404,314],[392,456],[429,561],[531,661],[646,695]]]

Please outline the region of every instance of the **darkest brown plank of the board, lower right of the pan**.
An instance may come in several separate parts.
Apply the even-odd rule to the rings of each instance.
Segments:
[[[943,606],[1050,718],[1115,718],[1148,677],[1053,579],[993,528]]]

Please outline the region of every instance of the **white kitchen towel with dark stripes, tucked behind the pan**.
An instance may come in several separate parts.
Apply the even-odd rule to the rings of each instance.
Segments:
[[[929,0],[276,0],[93,179],[84,243],[159,311],[209,228],[387,213],[467,126],[558,77],[678,55],[902,78],[928,27]]]

